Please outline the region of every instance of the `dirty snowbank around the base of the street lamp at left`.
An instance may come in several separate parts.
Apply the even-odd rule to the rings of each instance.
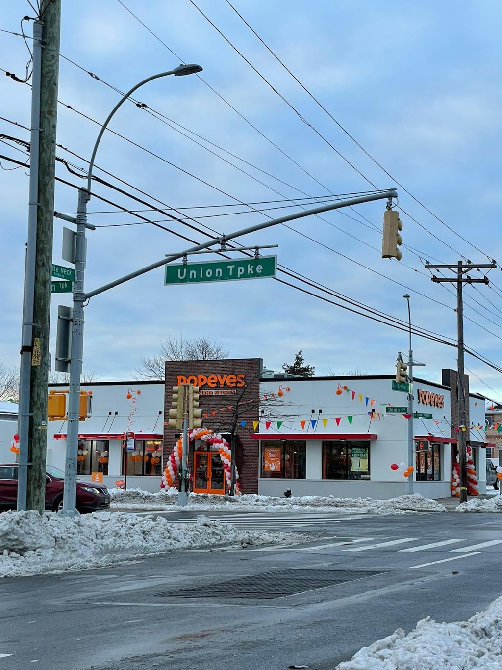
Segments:
[[[246,531],[203,516],[192,525],[114,512],[71,518],[4,512],[0,514],[0,577],[121,565],[172,549],[283,545],[309,539],[300,533]]]

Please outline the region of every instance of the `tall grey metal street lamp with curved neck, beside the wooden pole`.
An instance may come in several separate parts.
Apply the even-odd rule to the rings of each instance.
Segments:
[[[143,79],[143,81],[133,86],[131,90],[125,93],[115,107],[112,109],[106,121],[104,121],[94,149],[89,161],[87,173],[87,188],[79,189],[78,191],[78,206],[76,215],[76,245],[75,245],[75,281],[73,286],[73,312],[72,312],[72,338],[71,338],[71,353],[70,353],[70,386],[68,392],[68,431],[66,435],[66,464],[64,474],[64,494],[63,494],[63,508],[60,514],[66,517],[75,517],[78,515],[76,510],[76,480],[77,480],[77,454],[78,454],[78,421],[80,409],[80,377],[82,375],[82,355],[84,348],[84,301],[86,294],[84,293],[84,268],[85,268],[85,253],[86,253],[86,228],[87,223],[87,203],[90,200],[92,168],[94,167],[94,159],[96,151],[103,136],[104,131],[110,123],[113,115],[118,108],[129,98],[135,90],[161,77],[174,74],[175,76],[185,76],[187,74],[196,74],[201,72],[200,65],[180,65],[168,72],[159,72],[151,77]]]

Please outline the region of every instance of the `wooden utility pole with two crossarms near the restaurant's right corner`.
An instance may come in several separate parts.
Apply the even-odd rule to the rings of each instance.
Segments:
[[[477,265],[468,261],[463,263],[457,261],[455,265],[429,265],[425,263],[428,270],[446,269],[456,270],[456,278],[450,277],[436,277],[432,275],[432,281],[435,283],[456,283],[456,328],[457,328],[457,357],[456,370],[457,382],[456,393],[458,397],[458,472],[460,478],[460,502],[467,502],[467,409],[465,399],[465,384],[464,384],[464,316],[463,316],[463,297],[462,289],[464,284],[487,284],[488,277],[485,275],[483,279],[473,279],[469,275],[464,277],[464,274],[470,270],[480,268],[495,268],[497,263],[485,263]],[[450,389],[451,393],[451,389]]]

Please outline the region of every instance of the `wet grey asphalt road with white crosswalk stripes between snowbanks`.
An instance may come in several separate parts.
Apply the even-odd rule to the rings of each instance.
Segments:
[[[498,515],[207,513],[230,515],[312,541],[4,578],[0,670],[333,670],[396,628],[465,620],[502,594]]]

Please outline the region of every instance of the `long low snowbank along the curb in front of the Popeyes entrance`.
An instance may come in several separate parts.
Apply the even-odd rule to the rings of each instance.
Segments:
[[[188,505],[177,506],[177,492],[149,493],[139,488],[127,491],[110,489],[113,509],[150,511],[229,511],[242,512],[337,512],[347,514],[379,514],[386,516],[420,512],[445,512],[446,507],[436,500],[424,498],[418,493],[398,496],[389,500],[372,498],[336,498],[335,496],[303,496],[301,498],[274,498],[244,494],[242,496],[220,496],[206,493],[191,493]]]

